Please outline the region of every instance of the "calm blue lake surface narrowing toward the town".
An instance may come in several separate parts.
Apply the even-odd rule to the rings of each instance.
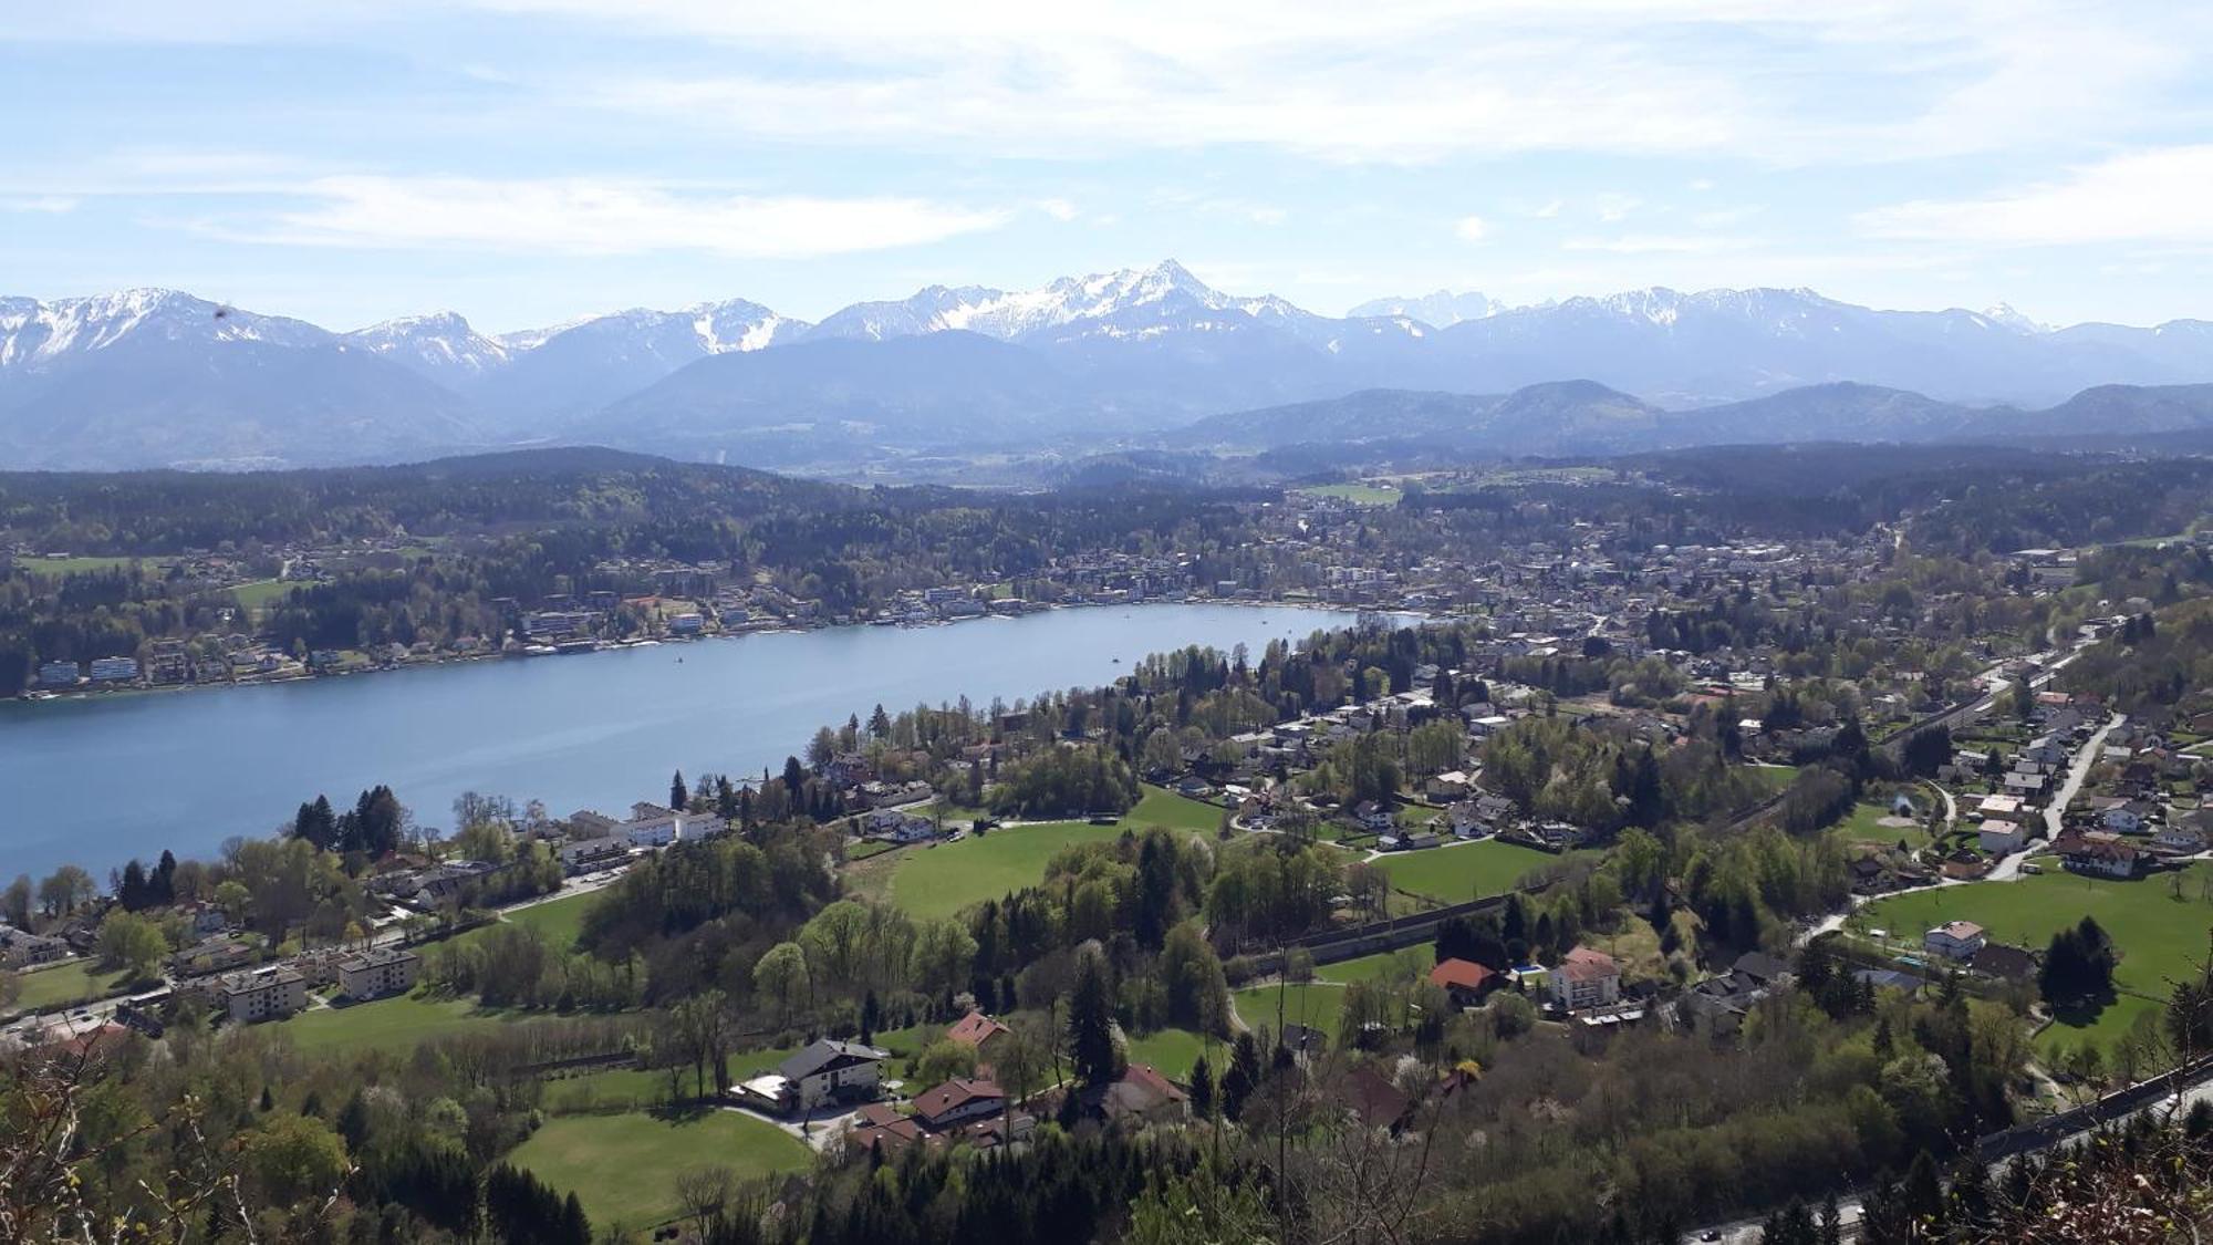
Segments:
[[[622,815],[668,773],[781,769],[817,727],[879,702],[1009,704],[1095,687],[1146,654],[1350,627],[1354,614],[1239,605],[1053,609],[949,627],[834,627],[478,660],[268,687],[0,704],[0,884],[73,862],[106,877],[162,848],[210,857],[303,800],[378,782],[427,826],[463,791]],[[1120,665],[1118,660],[1120,658]]]

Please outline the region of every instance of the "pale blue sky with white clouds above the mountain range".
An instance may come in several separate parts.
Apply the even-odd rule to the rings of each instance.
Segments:
[[[0,295],[487,332],[1184,261],[2213,319],[2213,4],[0,9]]]

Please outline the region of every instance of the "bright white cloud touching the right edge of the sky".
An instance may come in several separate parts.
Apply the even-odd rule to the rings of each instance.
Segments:
[[[1883,239],[2065,246],[2100,241],[2213,244],[2213,144],[2169,146],[2071,168],[2065,177],[1981,199],[1914,199],[1861,213]]]

